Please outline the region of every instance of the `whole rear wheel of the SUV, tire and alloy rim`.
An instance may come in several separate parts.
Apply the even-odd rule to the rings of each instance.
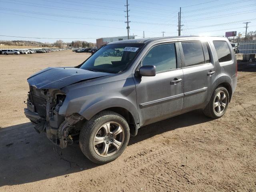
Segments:
[[[228,90],[224,87],[218,87],[214,90],[208,105],[204,108],[204,114],[211,118],[220,118],[226,113],[228,104]]]

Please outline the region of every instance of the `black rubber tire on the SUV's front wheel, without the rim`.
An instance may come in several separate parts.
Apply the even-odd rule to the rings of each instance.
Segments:
[[[94,147],[94,136],[97,134],[98,130],[108,122],[116,122],[120,124],[123,128],[124,138],[122,145],[116,151],[115,154],[111,156],[100,156],[96,153]],[[118,158],[125,150],[128,145],[130,138],[130,129],[128,123],[120,114],[112,111],[102,111],[92,117],[88,122],[84,124],[79,136],[79,145],[83,154],[92,162],[97,164],[104,164],[111,162]]]

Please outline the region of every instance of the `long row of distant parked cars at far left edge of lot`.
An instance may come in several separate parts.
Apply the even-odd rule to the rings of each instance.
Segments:
[[[10,55],[10,54],[33,54],[33,53],[49,53],[49,52],[54,52],[54,51],[61,51],[61,50],[66,50],[66,49],[54,49],[54,48],[43,48],[43,49],[5,49],[5,50],[0,50],[0,54],[4,55]]]

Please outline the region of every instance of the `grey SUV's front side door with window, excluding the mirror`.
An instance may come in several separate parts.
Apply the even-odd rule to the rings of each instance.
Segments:
[[[179,114],[184,94],[178,44],[153,46],[140,64],[156,66],[156,76],[134,77],[140,126]]]

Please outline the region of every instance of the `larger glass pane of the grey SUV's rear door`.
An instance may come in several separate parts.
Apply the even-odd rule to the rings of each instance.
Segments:
[[[184,42],[181,44],[186,67],[204,64],[204,52],[201,42]]]

